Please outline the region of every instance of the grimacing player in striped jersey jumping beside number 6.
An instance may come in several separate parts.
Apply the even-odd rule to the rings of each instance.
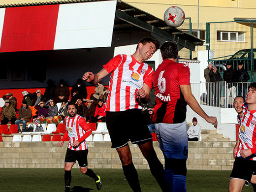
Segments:
[[[144,61],[150,59],[159,48],[156,39],[146,37],[137,45],[133,55],[117,55],[103,65],[97,74],[86,72],[83,79],[96,84],[111,73],[109,95],[106,102],[106,124],[112,148],[119,154],[124,175],[134,192],[141,192],[138,173],[132,162],[128,142],[138,144],[149,163],[152,175],[163,192],[169,192],[164,181],[164,171],[152,145],[152,135],[144,121],[140,106],[147,103],[152,84],[153,69]]]

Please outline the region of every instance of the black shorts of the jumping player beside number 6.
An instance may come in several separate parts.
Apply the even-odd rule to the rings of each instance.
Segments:
[[[111,148],[120,148],[128,144],[143,144],[152,140],[141,109],[128,109],[119,112],[106,112],[106,124],[111,138]]]

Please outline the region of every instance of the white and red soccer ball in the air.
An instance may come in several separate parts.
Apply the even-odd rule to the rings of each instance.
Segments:
[[[164,22],[171,27],[180,27],[185,20],[185,13],[178,6],[171,6],[164,12]]]

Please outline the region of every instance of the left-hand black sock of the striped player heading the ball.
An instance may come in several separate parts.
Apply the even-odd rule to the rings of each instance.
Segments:
[[[133,192],[141,192],[137,170],[133,163],[123,165],[124,175]]]

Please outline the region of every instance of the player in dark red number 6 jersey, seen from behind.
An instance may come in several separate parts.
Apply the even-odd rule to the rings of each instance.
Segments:
[[[188,136],[186,128],[186,105],[208,123],[217,128],[217,118],[209,117],[191,92],[190,70],[186,64],[177,62],[178,49],[173,42],[162,44],[163,62],[153,73],[156,106],[153,121],[165,158],[165,180],[171,192],[186,192],[186,160],[188,159]]]

